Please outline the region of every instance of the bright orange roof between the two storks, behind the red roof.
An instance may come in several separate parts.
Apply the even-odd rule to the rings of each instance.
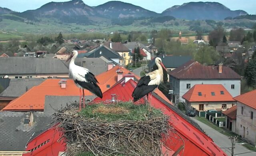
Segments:
[[[96,76],[98,82],[99,82],[99,86],[100,89],[102,90],[102,93],[105,92],[106,90],[108,90],[109,88],[107,88],[106,86],[109,84],[110,87],[114,86],[114,84],[116,84],[117,82],[117,71],[122,71],[123,75],[125,74],[133,74],[132,72],[130,72],[129,70],[127,70],[126,68],[122,68],[120,66],[115,66],[114,68],[99,74]],[[136,76],[134,74],[134,77],[137,80],[140,80],[139,76]],[[170,100],[157,88],[154,91],[156,94],[158,94],[158,96],[160,96],[162,99],[164,99],[166,102],[172,104],[172,102],[170,102]]]

